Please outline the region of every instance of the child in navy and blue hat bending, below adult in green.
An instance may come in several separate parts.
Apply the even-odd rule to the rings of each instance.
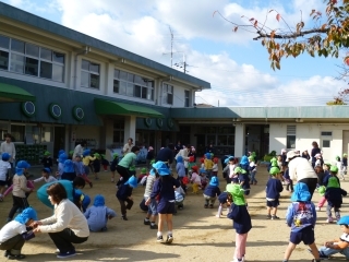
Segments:
[[[131,210],[133,205],[132,190],[137,187],[137,179],[132,176],[128,181],[120,184],[120,188],[117,192],[117,198],[121,205],[121,218],[128,221],[127,210]],[[127,204],[125,204],[127,202]]]

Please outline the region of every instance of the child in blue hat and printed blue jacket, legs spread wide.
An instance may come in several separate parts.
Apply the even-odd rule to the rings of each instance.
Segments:
[[[320,262],[318,251],[315,245],[314,227],[316,223],[315,205],[311,200],[306,183],[298,182],[292,193],[292,203],[286,213],[286,223],[291,227],[290,242],[286,249],[284,262],[288,262],[297,245],[303,241],[311,248],[316,262]]]

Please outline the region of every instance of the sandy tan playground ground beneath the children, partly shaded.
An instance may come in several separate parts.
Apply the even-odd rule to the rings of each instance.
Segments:
[[[37,177],[39,169],[32,168]],[[285,213],[290,203],[290,193],[284,190],[278,210],[279,221],[267,221],[265,209],[265,184],[267,172],[264,166],[258,167],[256,179],[257,186],[252,186],[249,196],[249,211],[252,216],[253,228],[249,233],[245,261],[282,261],[284,252],[288,245],[290,229],[285,223]],[[40,184],[36,184],[37,188]],[[220,189],[225,190],[226,182],[220,175]],[[348,181],[342,181],[341,187],[349,191]],[[94,198],[101,193],[106,198],[106,205],[113,209],[118,216],[108,223],[108,231],[92,233],[88,240],[82,245],[75,245],[77,255],[68,261],[231,261],[234,250],[234,230],[232,221],[221,217],[217,218],[217,203],[213,210],[204,209],[202,193],[192,194],[191,189],[184,201],[184,210],[179,211],[173,217],[173,238],[171,245],[156,242],[156,231],[149,226],[143,225],[145,214],[139,207],[144,193],[144,188],[134,190],[134,206],[128,213],[129,221],[122,221],[120,205],[116,199],[116,187],[110,182],[110,174],[101,172],[100,180],[94,182],[93,189],[87,186],[84,192]],[[313,201],[320,199],[314,193]],[[29,199],[39,218],[48,217],[52,211],[36,199],[34,192]],[[0,203],[0,224],[4,224],[12,203],[11,195]],[[226,211],[224,211],[226,214]],[[349,200],[344,199],[341,215],[349,215]],[[339,226],[326,224],[325,209],[317,212],[315,227],[316,245],[320,247],[327,239],[337,238],[341,235]],[[166,234],[166,233],[165,233]],[[312,255],[308,253],[306,246],[299,245],[290,261],[311,261]],[[25,243],[23,261],[61,261],[55,255],[56,247],[47,234],[39,234],[36,238]],[[344,261],[336,255],[332,261]],[[0,261],[7,261],[0,257]],[[65,260],[67,261],[67,260]]]

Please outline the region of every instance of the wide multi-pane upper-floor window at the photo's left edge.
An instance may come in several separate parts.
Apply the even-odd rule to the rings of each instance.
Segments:
[[[64,53],[0,35],[0,70],[64,81]]]

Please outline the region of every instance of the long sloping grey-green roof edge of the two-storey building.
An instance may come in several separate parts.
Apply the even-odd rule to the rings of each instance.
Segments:
[[[55,22],[48,21],[46,19],[39,17],[39,16],[34,15],[32,13],[25,12],[25,11],[20,10],[17,8],[13,8],[13,7],[5,4],[3,2],[0,2],[0,16],[8,17],[10,20],[21,22],[21,23],[27,24],[29,26],[36,27],[38,29],[48,32],[48,33],[53,34],[56,36],[60,36],[62,38],[80,43],[81,45],[88,46],[92,49],[99,49],[101,51],[115,55],[119,58],[123,58],[125,60],[139,63],[143,67],[147,67],[153,70],[163,72],[167,75],[171,75],[174,79],[190,82],[192,84],[197,85],[198,88],[202,88],[202,90],[210,88],[210,83],[208,83],[204,80],[194,78],[189,74],[184,74],[183,72],[180,72],[176,69],[169,68],[167,66],[164,66],[164,64],[158,63],[156,61],[153,61],[151,59],[144,58],[144,57],[139,56],[136,53],[130,52],[128,50],[124,50],[124,49],[119,48],[117,46],[110,45],[108,43],[98,40],[94,37],[87,36],[85,34],[77,32],[77,31],[73,31],[71,28],[68,28],[68,27],[62,26],[60,24],[57,24]]]

